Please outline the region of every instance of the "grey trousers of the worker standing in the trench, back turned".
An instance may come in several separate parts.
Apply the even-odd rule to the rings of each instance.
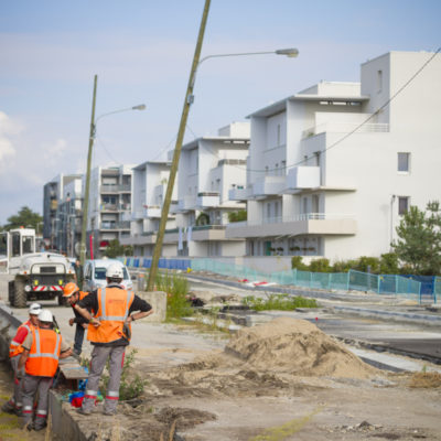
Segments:
[[[39,377],[26,374],[22,379],[23,394],[23,422],[32,421],[35,394],[39,392],[34,427],[43,428],[47,418],[49,389],[52,386],[53,377]]]

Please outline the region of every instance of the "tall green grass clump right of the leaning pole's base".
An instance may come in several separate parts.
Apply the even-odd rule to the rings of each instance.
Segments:
[[[185,276],[170,275],[169,271],[157,275],[157,290],[166,292],[166,320],[180,319],[193,314],[186,294],[189,281]]]

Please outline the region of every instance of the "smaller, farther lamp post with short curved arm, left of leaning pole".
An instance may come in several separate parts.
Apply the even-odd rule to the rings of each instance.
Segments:
[[[82,266],[86,260],[86,230],[87,230],[87,213],[89,206],[89,190],[90,190],[90,165],[92,165],[92,150],[94,147],[95,135],[96,135],[96,123],[97,121],[108,115],[119,114],[121,111],[128,110],[144,110],[146,105],[141,104],[133,107],[128,107],[125,109],[109,111],[108,114],[103,114],[95,119],[95,104],[96,104],[96,90],[97,90],[98,75],[95,75],[94,79],[94,95],[92,100],[92,117],[90,117],[90,133],[89,133],[89,148],[87,152],[87,172],[86,172],[86,186],[84,189],[84,204],[83,204],[83,225],[82,225],[82,241],[79,247],[79,261]]]

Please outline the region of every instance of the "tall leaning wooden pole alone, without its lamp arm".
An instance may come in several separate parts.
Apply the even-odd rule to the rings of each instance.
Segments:
[[[158,272],[158,262],[159,262],[159,258],[161,256],[162,241],[164,239],[165,225],[166,225],[166,219],[169,217],[170,203],[172,200],[174,180],[176,178],[176,171],[178,171],[179,160],[180,160],[180,155],[181,155],[182,142],[184,140],[186,120],[189,118],[190,106],[193,103],[194,79],[195,79],[197,65],[200,63],[202,42],[204,40],[205,25],[206,25],[206,21],[208,18],[209,2],[211,2],[211,0],[205,0],[205,7],[204,7],[203,15],[202,15],[201,28],[200,28],[200,34],[197,36],[196,49],[194,51],[192,71],[190,73],[189,85],[186,88],[185,100],[184,100],[184,108],[182,110],[181,123],[180,123],[178,138],[176,138],[176,146],[174,148],[172,166],[170,169],[169,183],[166,185],[165,198],[164,198],[164,203],[162,205],[161,220],[159,223],[159,229],[158,229],[158,235],[157,235],[157,245],[154,246],[152,262],[151,262],[150,272],[149,272],[149,281],[147,284],[148,291],[153,290],[154,279],[155,279],[157,272]]]

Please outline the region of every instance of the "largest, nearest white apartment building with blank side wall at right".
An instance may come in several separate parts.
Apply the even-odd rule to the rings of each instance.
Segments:
[[[441,200],[432,55],[390,52],[362,64],[361,83],[321,82],[251,114],[247,185],[232,192],[248,220],[226,237],[246,238],[247,256],[388,252],[408,207]]]

